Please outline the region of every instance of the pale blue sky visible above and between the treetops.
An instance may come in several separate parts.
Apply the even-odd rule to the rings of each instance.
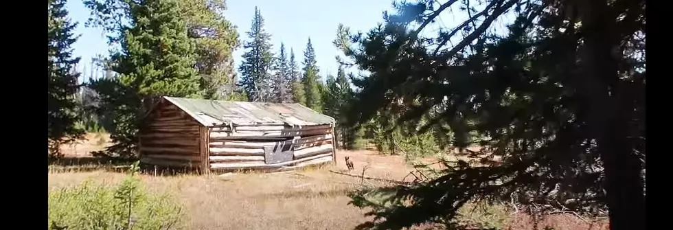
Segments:
[[[240,38],[245,40],[245,32],[249,31],[255,6],[258,6],[266,23],[266,31],[272,35],[273,51],[276,52],[283,42],[288,51],[290,47],[294,49],[298,61],[303,59],[304,48],[310,37],[324,78],[328,73],[336,74],[334,56],[339,51],[332,45],[336,26],[343,23],[354,31],[367,31],[383,21],[383,10],[390,10],[391,3],[391,0],[229,0],[225,16],[238,27]],[[82,58],[79,68],[84,68],[84,65],[90,68],[92,57],[108,54],[106,38],[100,29],[84,27],[89,10],[84,7],[82,0],[69,0],[67,8],[71,20],[79,23],[75,33],[80,34],[80,38],[73,47],[75,55]],[[242,54],[242,49],[234,52],[237,66]]]

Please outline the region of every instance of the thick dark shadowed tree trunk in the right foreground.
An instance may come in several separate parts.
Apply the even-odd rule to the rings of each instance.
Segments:
[[[642,165],[628,142],[631,104],[620,103],[618,63],[620,34],[617,15],[606,0],[579,1],[585,43],[584,75],[578,79],[583,91],[591,135],[598,141],[606,175],[606,203],[610,229],[646,229]]]

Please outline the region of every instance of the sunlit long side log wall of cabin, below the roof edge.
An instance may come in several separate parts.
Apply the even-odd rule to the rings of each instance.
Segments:
[[[233,132],[232,132],[233,128]],[[212,170],[269,169],[334,161],[333,126],[222,126],[209,130]],[[264,146],[295,139],[292,161],[266,164]]]

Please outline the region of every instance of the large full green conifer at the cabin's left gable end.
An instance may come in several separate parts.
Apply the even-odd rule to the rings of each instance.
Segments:
[[[93,21],[103,25],[112,42],[122,50],[111,54],[109,65],[119,74],[93,83],[100,93],[104,109],[111,114],[115,146],[109,152],[124,156],[135,153],[137,131],[148,108],[158,96],[199,97],[201,90],[194,69],[194,46],[187,36],[185,21],[174,0],[148,0],[141,3],[124,0],[85,1],[93,10]],[[128,26],[116,15],[130,21]]]

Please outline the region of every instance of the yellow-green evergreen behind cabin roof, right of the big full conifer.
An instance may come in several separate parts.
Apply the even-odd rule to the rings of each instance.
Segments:
[[[196,69],[201,89],[209,99],[227,99],[235,94],[236,71],[231,54],[240,43],[236,26],[225,19],[223,0],[178,1],[187,35],[194,41]]]

